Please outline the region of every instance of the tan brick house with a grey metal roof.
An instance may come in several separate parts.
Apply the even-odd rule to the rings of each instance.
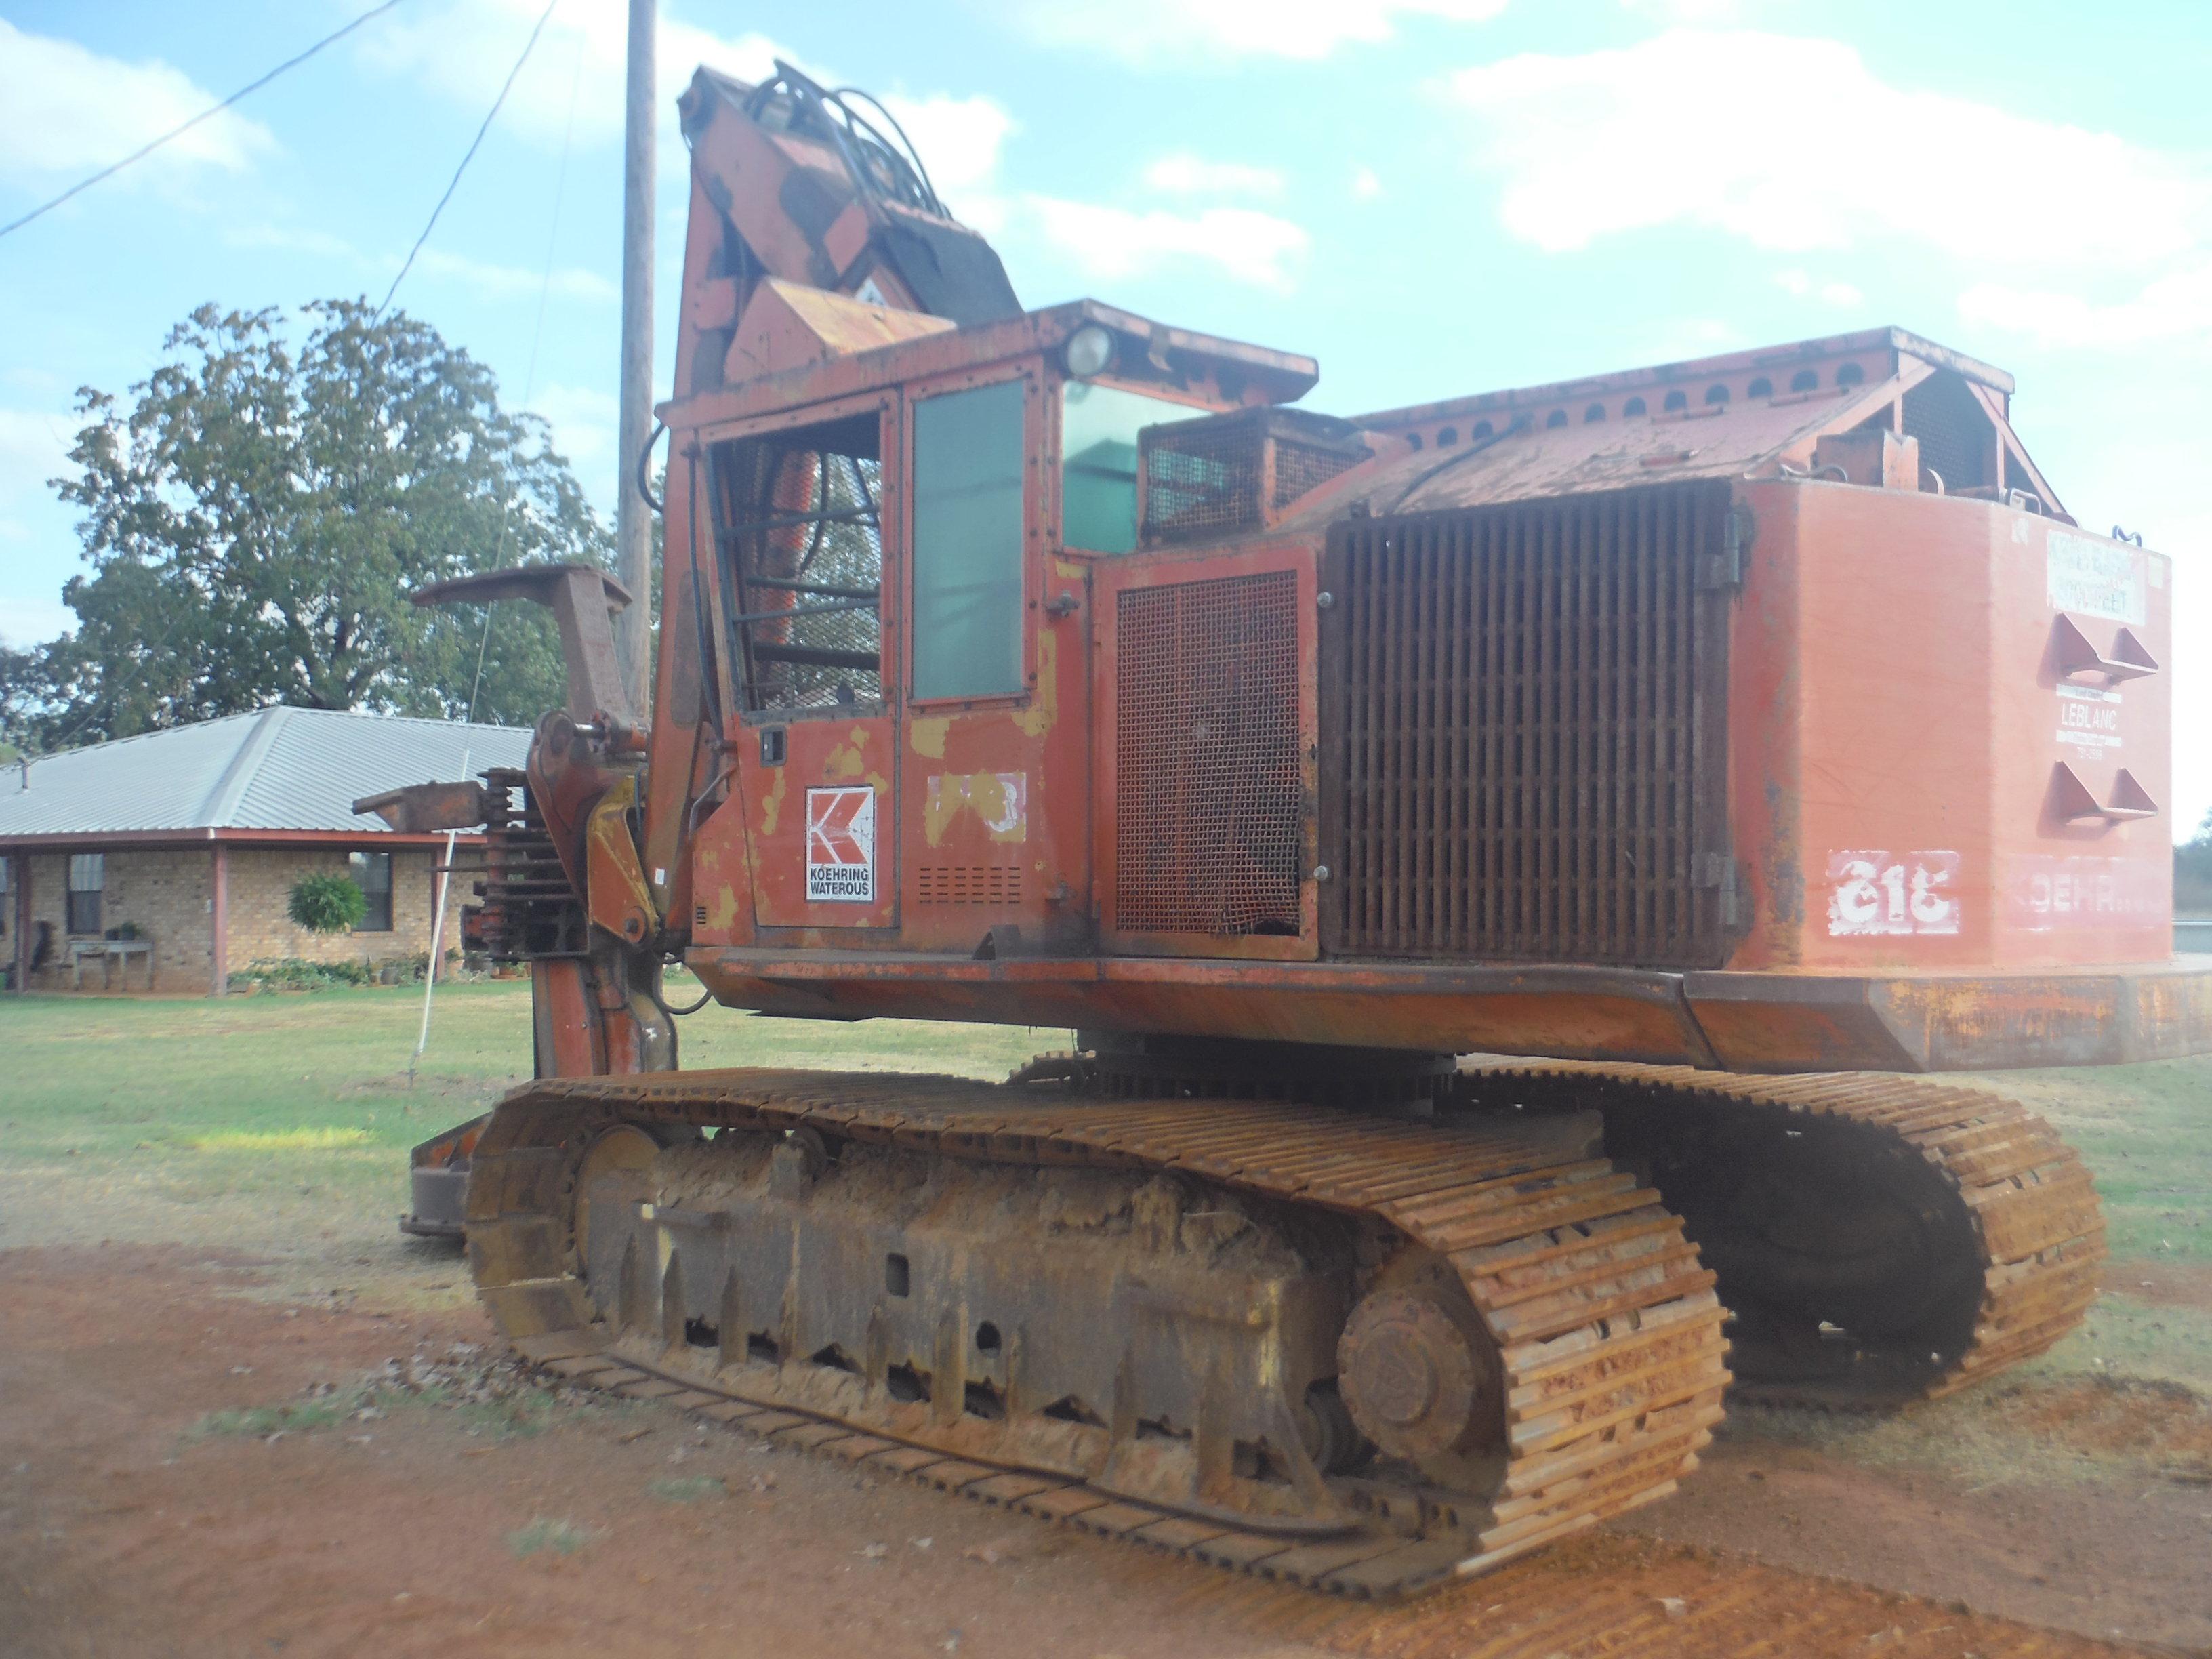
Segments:
[[[509,726],[263,708],[11,763],[0,770],[7,982],[221,995],[254,962],[420,962],[445,836],[398,834],[354,801],[520,768],[529,743]],[[292,887],[312,872],[361,885],[356,929],[292,922]],[[458,902],[438,949],[458,940]]]

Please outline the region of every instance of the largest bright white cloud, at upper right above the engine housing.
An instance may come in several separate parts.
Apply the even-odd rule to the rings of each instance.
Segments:
[[[1504,58],[1451,75],[1447,93],[1475,128],[1478,166],[1502,181],[1506,228],[1553,252],[1690,223],[1778,250],[1891,234],[2004,265],[2141,268],[2190,246],[2212,204],[2205,179],[2112,133],[1891,86],[1836,40],[1672,31]],[[1836,111],[1847,133],[1878,133],[1880,155],[1911,157],[1911,181],[1845,128],[1763,142],[1747,100]],[[2004,177],[2035,179],[2035,223],[2017,192],[1913,184],[1989,175],[2000,159]]]

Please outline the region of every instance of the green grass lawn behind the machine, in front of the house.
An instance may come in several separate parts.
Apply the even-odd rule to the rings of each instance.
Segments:
[[[688,980],[679,987],[684,1000]],[[529,1071],[524,982],[438,993],[409,1086],[420,991],[228,1000],[0,998],[0,1248],[62,1241],[234,1245],[330,1287],[405,1270],[465,1296],[451,1256],[403,1245],[407,1148]],[[706,1009],[684,1064],[949,1071],[1004,1077],[1066,1031],[898,1020],[770,1020]],[[2212,1270],[2212,1057],[1984,1082],[2046,1113],[2097,1175],[2119,1263]],[[372,1272],[367,1279],[376,1279]],[[2212,1378],[2212,1312],[2135,1296],[2115,1272],[2086,1336],[2039,1365]]]

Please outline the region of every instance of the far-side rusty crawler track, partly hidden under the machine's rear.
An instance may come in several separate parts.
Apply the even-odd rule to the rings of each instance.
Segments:
[[[1856,1164],[1876,1179],[1916,1179],[1931,1197],[1931,1232],[1913,1276],[1947,1281],[1911,1329],[1849,1354],[1843,1374],[1767,1369],[1767,1356],[1739,1329],[1736,1398],[1820,1407],[1891,1407],[1936,1398],[2042,1354],[2081,1323],[2097,1296],[2106,1256],[2104,1214],[2088,1170],[2057,1133],[2017,1102],[1880,1073],[1743,1077],[1690,1066],[1546,1062],[1462,1073],[1462,1099],[1478,1106],[1597,1108],[1606,1148],[1639,1168],[1686,1217],[1690,1237],[1712,1250],[1719,1221],[1697,1190],[1736,1190],[1756,1175],[1756,1130],[1801,1139],[1820,1133],[1820,1152],[1838,1179]],[[1701,1137],[1719,1139],[1701,1139]],[[1750,1148],[1741,1161],[1736,1148]],[[1650,1164],[1688,1177],[1677,1186]],[[1699,1168],[1699,1164],[1703,1168]],[[1820,1166],[1814,1166],[1820,1168]],[[1719,1265],[1723,1252],[1712,1252]],[[1721,1267],[1721,1298],[1739,1314],[1750,1296]],[[1801,1314],[1807,1329],[1820,1310]]]

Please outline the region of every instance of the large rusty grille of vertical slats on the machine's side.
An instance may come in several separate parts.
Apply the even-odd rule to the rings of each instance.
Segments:
[[[1725,484],[1332,533],[1323,945],[1712,967]]]

